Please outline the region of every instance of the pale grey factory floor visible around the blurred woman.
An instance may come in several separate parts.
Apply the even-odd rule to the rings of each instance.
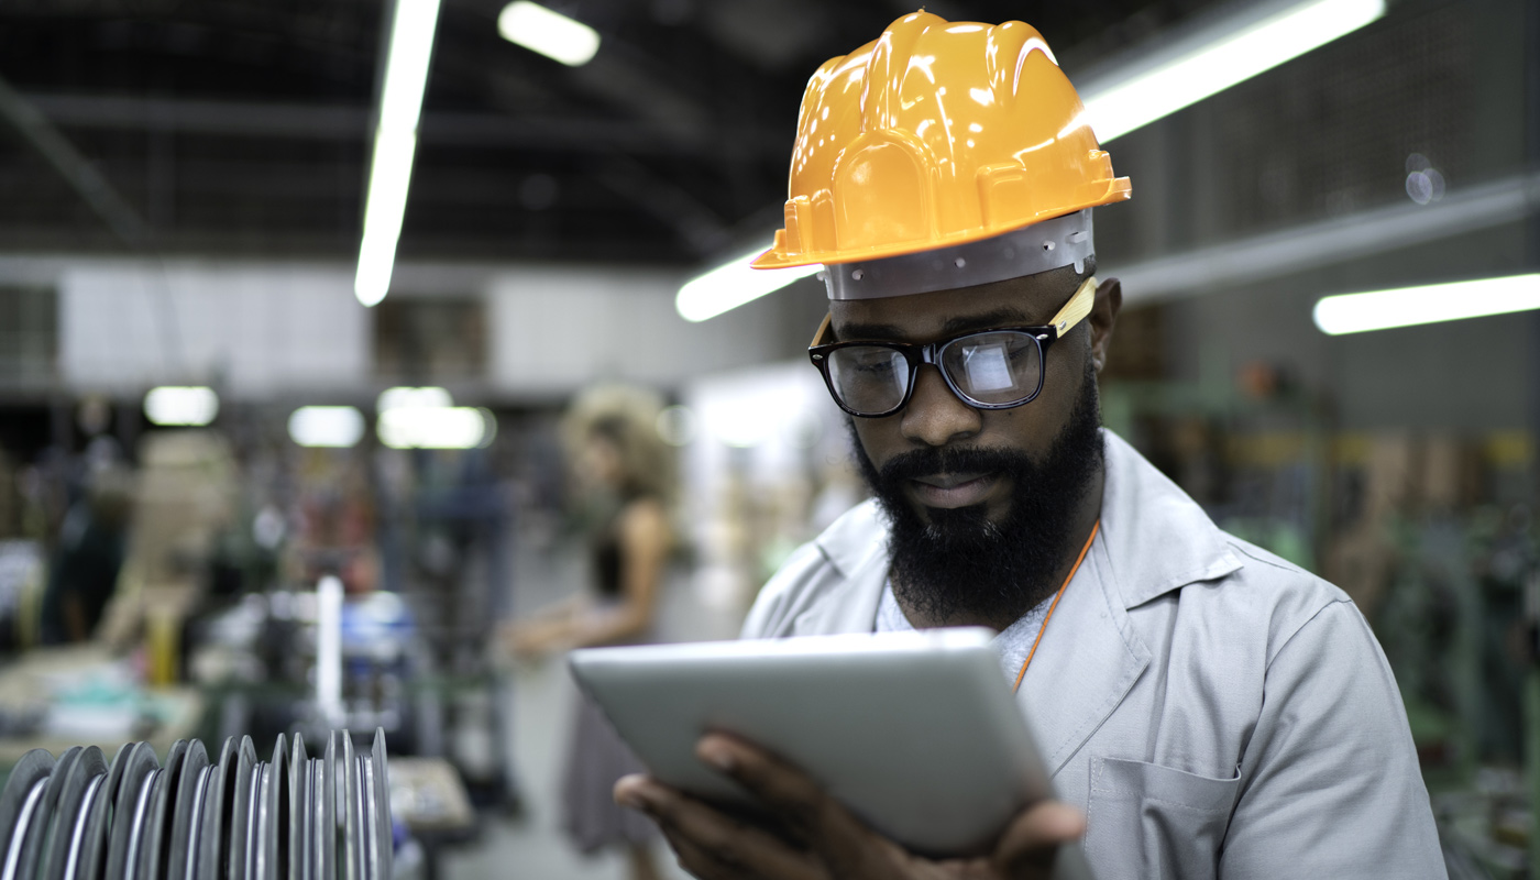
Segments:
[[[581,549],[556,544],[534,549],[528,541],[516,553],[514,612],[528,612],[585,589]],[[733,638],[741,612],[702,593],[682,572],[673,572],[664,590],[658,629],[667,641]],[[559,774],[567,746],[574,686],[561,657],[513,670],[511,763],[519,774],[524,812],[517,818],[484,817],[477,840],[445,852],[445,880],[625,880],[624,854],[584,858],[562,837]],[[684,878],[667,846],[654,854],[665,877]]]

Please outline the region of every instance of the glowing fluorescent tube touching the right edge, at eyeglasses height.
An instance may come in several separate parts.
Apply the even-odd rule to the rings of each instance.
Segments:
[[[1532,308],[1540,308],[1540,274],[1327,296],[1314,317],[1321,333],[1340,336]]]

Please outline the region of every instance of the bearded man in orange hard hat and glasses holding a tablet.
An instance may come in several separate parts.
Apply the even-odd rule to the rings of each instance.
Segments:
[[[825,264],[810,356],[875,501],[802,547],[752,638],[983,624],[1063,803],[987,858],[904,852],[750,743],[698,754],[750,826],[616,786],[699,877],[1443,877],[1391,670],[1337,587],[1218,530],[1100,428],[1121,304],[1090,208],[1129,196],[1032,28],[918,12],[808,83],[787,227],[756,265]]]

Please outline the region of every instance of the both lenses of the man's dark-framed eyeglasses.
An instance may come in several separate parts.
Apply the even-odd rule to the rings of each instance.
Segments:
[[[1038,390],[1043,351],[1030,333],[996,330],[953,339],[941,348],[947,379],[973,402],[1024,402]],[[858,413],[887,413],[909,393],[912,381],[904,354],[881,345],[850,345],[829,354],[829,379],[845,407]]]

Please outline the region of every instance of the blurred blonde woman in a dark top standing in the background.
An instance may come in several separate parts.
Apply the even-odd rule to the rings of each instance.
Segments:
[[[585,391],[562,435],[587,524],[593,589],[516,621],[508,647],[521,657],[601,644],[651,641],[664,567],[673,546],[668,501],[671,450],[658,435],[661,401],[625,387]],[[641,763],[587,698],[578,701],[564,777],[562,826],[585,854],[625,846],[631,877],[656,878],[651,841],[658,829],[614,804],[611,789]]]

